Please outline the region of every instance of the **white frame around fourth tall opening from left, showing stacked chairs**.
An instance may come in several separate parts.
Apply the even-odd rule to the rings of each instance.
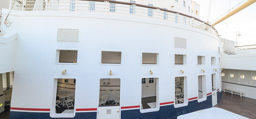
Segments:
[[[175,78],[176,77],[183,77],[183,80],[184,80],[184,103],[182,103],[182,104],[175,104]],[[188,105],[188,85],[187,85],[187,83],[188,83],[188,76],[181,76],[181,75],[179,75],[179,76],[174,76],[174,79],[173,79],[173,82],[174,82],[174,88],[173,88],[173,91],[174,91],[174,97],[173,97],[173,100],[174,100],[174,108],[179,108],[179,107],[184,107],[184,106],[187,106]]]

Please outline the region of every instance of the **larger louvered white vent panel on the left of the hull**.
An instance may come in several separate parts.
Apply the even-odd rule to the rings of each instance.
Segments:
[[[79,30],[78,29],[58,29],[57,41],[58,42],[78,42]]]

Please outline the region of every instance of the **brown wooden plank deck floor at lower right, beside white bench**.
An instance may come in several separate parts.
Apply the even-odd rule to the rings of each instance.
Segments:
[[[256,100],[222,92],[222,99],[215,107],[225,109],[249,119],[256,119]]]

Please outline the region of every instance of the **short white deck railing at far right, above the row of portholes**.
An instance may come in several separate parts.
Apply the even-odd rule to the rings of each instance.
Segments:
[[[256,54],[256,45],[233,46],[225,44],[224,52],[226,52],[227,54]]]

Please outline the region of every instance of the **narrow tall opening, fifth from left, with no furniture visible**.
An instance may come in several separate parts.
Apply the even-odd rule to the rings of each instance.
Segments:
[[[198,102],[206,100],[206,76],[198,76]]]

